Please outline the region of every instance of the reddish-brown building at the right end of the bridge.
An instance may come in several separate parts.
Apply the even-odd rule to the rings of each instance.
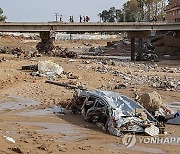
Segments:
[[[167,22],[180,22],[180,0],[169,0],[165,12]]]

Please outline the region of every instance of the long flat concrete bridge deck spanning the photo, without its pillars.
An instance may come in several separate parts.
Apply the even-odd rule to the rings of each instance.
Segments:
[[[180,23],[120,22],[120,23],[59,23],[59,22],[0,22],[0,32],[123,32],[174,31]]]

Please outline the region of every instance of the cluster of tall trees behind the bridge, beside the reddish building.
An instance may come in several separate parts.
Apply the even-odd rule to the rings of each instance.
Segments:
[[[103,22],[161,21],[167,0],[128,0],[121,9],[111,7],[99,13]]]

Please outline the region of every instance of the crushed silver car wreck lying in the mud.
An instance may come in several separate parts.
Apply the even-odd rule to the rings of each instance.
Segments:
[[[71,109],[82,114],[85,120],[101,124],[104,130],[116,136],[124,133],[156,136],[165,131],[164,124],[159,123],[143,106],[112,91],[78,90]]]

